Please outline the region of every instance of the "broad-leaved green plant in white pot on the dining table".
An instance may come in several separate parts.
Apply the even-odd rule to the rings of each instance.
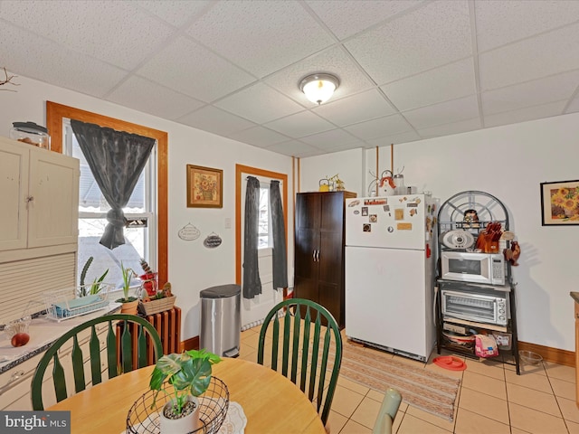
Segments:
[[[157,391],[151,408],[155,407],[159,392],[170,398],[159,415],[161,434],[201,428],[197,397],[209,387],[212,365],[219,362],[221,358],[217,354],[205,349],[168,354],[157,360],[149,382],[150,389]],[[168,382],[166,388],[164,382]]]

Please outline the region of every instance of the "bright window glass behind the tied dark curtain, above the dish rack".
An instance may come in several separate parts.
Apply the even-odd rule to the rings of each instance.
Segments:
[[[79,274],[90,257],[94,260],[87,270],[86,283],[99,278],[105,270],[109,270],[106,281],[116,284],[122,282],[120,265],[134,269],[142,274],[139,259],[145,258],[149,264],[156,264],[156,221],[155,197],[153,185],[155,182],[156,147],[153,148],[147,165],[141,173],[135,190],[131,194],[127,206],[123,209],[129,225],[124,230],[126,244],[114,250],[100,245],[100,237],[107,225],[107,212],[110,205],[100,192],[90,167],[82,154],[81,147],[72,132],[70,120],[64,123],[65,154],[78,158],[81,162],[81,180],[79,185]]]

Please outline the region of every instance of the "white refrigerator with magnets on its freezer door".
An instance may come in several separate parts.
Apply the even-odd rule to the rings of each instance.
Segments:
[[[428,359],[436,206],[425,194],[346,200],[348,338]]]

